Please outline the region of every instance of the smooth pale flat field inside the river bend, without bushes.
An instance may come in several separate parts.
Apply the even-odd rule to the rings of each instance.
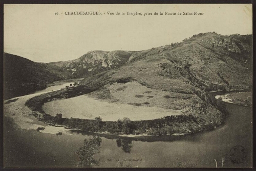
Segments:
[[[88,95],[47,102],[42,110],[52,116],[62,113],[62,117],[67,118],[94,119],[100,116],[103,121],[117,121],[124,117],[131,120],[150,120],[181,114],[179,110],[104,102]]]

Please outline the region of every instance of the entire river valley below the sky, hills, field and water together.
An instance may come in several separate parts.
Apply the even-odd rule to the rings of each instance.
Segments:
[[[112,152],[141,160],[132,167],[215,167],[222,158],[225,167],[251,165],[249,154],[241,165],[227,160],[238,143],[251,151],[250,93],[242,92],[252,88],[251,35],[200,33],[145,51],[91,51],[48,64],[9,57],[21,65],[6,64],[7,166],[74,167],[92,135],[102,137],[94,156],[100,167],[118,167],[108,162]]]

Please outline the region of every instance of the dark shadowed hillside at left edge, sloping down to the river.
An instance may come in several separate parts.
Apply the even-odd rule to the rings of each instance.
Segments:
[[[72,75],[55,65],[37,63],[16,55],[4,54],[4,98],[26,95],[44,89],[50,82]]]

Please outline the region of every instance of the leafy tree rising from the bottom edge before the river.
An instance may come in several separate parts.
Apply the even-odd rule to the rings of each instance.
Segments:
[[[99,153],[101,137],[93,136],[93,138],[87,140],[84,139],[83,145],[77,150],[79,161],[78,167],[92,167],[98,166],[99,161],[93,158],[94,154]]]

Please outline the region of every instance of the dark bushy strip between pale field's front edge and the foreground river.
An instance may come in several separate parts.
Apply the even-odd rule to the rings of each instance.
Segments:
[[[224,102],[217,100],[216,107],[225,111]],[[214,129],[222,123],[225,113],[221,113],[210,105],[204,108],[192,107],[186,114],[166,116],[153,120],[102,121],[100,117],[92,119],[62,118],[62,114],[51,116],[46,113],[34,115],[41,121],[51,125],[62,125],[71,129],[90,132],[108,132],[112,134],[146,134],[146,135],[176,135],[195,133]]]

